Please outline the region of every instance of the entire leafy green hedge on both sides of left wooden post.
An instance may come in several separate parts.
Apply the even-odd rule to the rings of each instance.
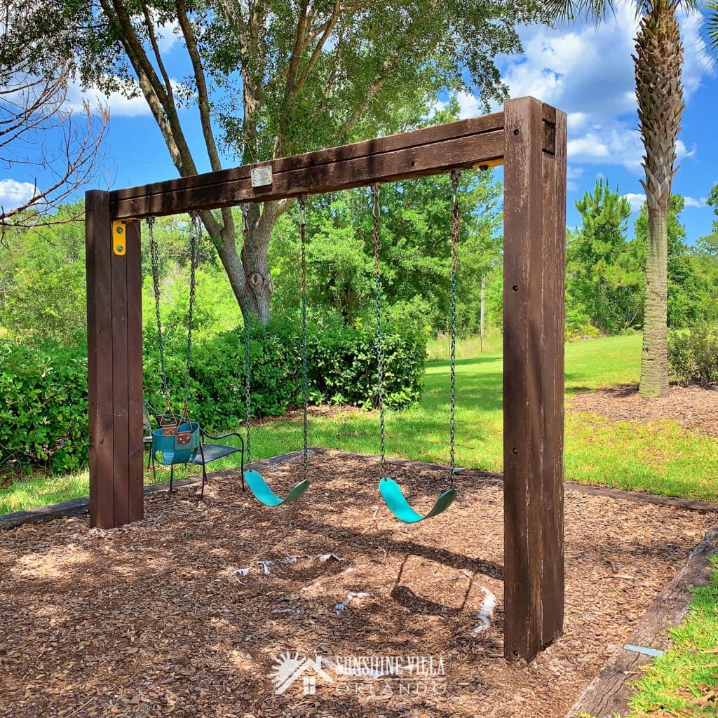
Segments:
[[[376,348],[370,327],[320,327],[307,339],[309,401],[376,406]],[[168,337],[172,395],[182,396],[185,337]],[[190,373],[190,414],[210,431],[235,429],[244,419],[244,332],[196,342]],[[401,409],[421,397],[426,337],[411,326],[384,328],[386,406]],[[279,416],[302,398],[299,322],[280,319],[252,328],[253,416]],[[157,340],[148,327],[145,396],[162,409]],[[88,457],[86,348],[0,344],[0,468],[43,466],[55,472],[82,467]]]

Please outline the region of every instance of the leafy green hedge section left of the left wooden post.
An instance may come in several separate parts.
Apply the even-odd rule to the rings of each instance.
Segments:
[[[87,350],[0,343],[0,466],[75,470],[88,441]]]

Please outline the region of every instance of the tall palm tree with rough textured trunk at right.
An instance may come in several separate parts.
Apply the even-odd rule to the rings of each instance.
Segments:
[[[600,19],[613,0],[547,0],[556,17],[580,15]],[[645,319],[640,366],[640,395],[668,394],[668,203],[676,173],[676,139],[685,108],[681,66],[683,43],[676,13],[697,9],[698,0],[635,0],[640,16],[635,37],[635,95],[638,130],[643,139],[641,180],[648,205],[645,266]],[[710,0],[707,40],[718,47],[718,2]]]

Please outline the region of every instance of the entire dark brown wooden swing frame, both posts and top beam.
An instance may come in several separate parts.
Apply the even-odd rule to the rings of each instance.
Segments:
[[[86,194],[90,525],[143,516],[139,223],[112,222],[504,166],[505,656],[531,661],[564,620],[566,113],[536,98],[503,112],[271,162]]]

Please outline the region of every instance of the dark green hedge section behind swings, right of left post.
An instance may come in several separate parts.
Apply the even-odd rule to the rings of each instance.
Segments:
[[[401,409],[421,397],[426,335],[415,322],[383,327],[386,406]],[[146,396],[162,408],[157,340],[145,335]],[[320,319],[309,321],[307,373],[310,404],[352,404],[365,409],[378,401],[376,337],[373,326],[357,327]],[[184,394],[185,347],[168,346],[167,373],[172,396]],[[219,431],[237,426],[245,415],[244,330],[224,332],[197,344],[190,372],[190,415]],[[252,416],[279,416],[302,402],[302,335],[298,316],[274,317],[251,328]]]

